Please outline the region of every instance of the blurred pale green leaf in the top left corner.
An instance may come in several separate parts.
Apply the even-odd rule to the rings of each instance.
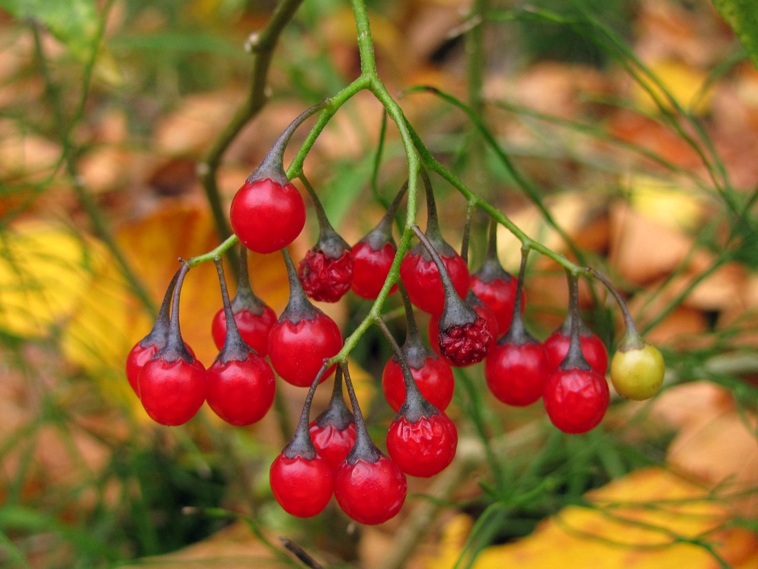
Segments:
[[[18,20],[42,24],[77,60],[92,57],[100,25],[95,0],[0,0],[0,8]]]

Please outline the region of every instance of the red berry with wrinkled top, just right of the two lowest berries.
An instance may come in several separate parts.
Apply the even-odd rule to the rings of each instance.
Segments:
[[[400,415],[387,431],[387,452],[400,470],[428,478],[456,456],[458,430],[446,414],[422,415],[415,423]]]

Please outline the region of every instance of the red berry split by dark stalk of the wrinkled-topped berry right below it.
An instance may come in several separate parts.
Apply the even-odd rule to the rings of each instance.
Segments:
[[[428,357],[424,359],[421,367],[410,366],[413,380],[424,395],[424,399],[430,402],[440,411],[444,411],[453,400],[455,379],[453,370],[449,364],[441,358]],[[384,365],[381,375],[381,386],[384,398],[394,411],[399,411],[406,401],[406,383],[402,378],[402,369],[396,358],[390,358]]]

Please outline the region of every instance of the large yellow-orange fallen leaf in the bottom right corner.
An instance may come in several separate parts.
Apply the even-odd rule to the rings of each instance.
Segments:
[[[563,508],[531,536],[484,549],[471,567],[712,569],[718,565],[706,549],[681,541],[704,535],[732,567],[747,569],[758,562],[758,537],[719,528],[729,519],[728,509],[709,499],[703,487],[670,471],[636,471],[586,497],[593,507]],[[461,516],[449,525],[440,553],[428,561],[430,569],[453,567],[471,524]]]

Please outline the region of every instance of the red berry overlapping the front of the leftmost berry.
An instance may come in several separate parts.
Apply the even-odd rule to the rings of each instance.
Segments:
[[[158,355],[139,374],[139,395],[152,420],[181,425],[195,416],[205,402],[205,367],[196,359],[164,361]]]

